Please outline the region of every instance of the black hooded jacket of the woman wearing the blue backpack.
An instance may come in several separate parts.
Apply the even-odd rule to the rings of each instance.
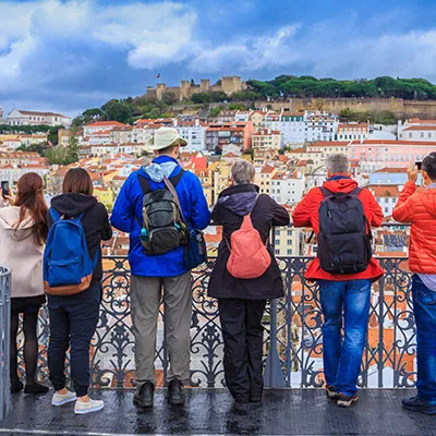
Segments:
[[[51,199],[51,207],[59,214],[68,217],[76,217],[85,213],[82,218],[83,229],[85,230],[88,253],[94,259],[97,249],[100,247],[101,240],[108,241],[112,238],[112,228],[109,223],[108,211],[106,207],[98,203],[90,195],[69,193],[61,194]],[[48,213],[48,226],[52,226],[53,220],[50,211]],[[94,269],[93,280],[100,281],[102,278],[101,250],[99,250],[98,261]]]

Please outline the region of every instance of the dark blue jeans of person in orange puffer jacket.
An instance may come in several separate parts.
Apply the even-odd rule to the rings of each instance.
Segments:
[[[417,396],[436,404],[436,292],[414,275],[412,296],[416,323]]]

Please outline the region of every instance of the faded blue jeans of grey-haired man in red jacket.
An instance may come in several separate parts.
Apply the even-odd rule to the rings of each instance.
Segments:
[[[366,342],[371,280],[319,280],[324,314],[323,355],[327,385],[353,396]],[[342,311],[344,338],[342,340]]]

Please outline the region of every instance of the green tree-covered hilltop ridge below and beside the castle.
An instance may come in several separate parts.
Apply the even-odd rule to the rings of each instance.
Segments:
[[[271,81],[250,80],[247,89],[227,96],[221,92],[198,93],[192,100],[177,101],[172,93],[166,93],[161,101],[146,96],[112,99],[100,108],[85,110],[74,119],[73,125],[90,121],[116,120],[133,122],[140,118],[160,118],[180,113],[186,106],[191,111],[208,108],[210,104],[222,104],[231,108],[251,108],[256,101],[288,104],[289,99],[402,99],[434,102],[436,86],[424,78],[392,78],[388,76],[373,80],[338,81],[313,76],[280,75]],[[374,112],[385,111],[386,105],[378,104]],[[378,108],[379,107],[379,108]],[[341,108],[343,109],[343,108]],[[360,110],[358,110],[359,112]],[[393,111],[396,112],[396,111]],[[400,118],[401,113],[395,113]],[[365,114],[366,117],[366,114]]]

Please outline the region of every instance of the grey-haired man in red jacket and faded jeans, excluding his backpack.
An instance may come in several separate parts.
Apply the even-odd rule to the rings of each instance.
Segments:
[[[326,160],[327,181],[324,189],[332,193],[350,194],[358,182],[350,177],[350,162],[344,155],[332,155]],[[373,194],[362,190],[359,195],[364,215],[371,226],[380,226],[383,211]],[[319,233],[318,209],[324,199],[320,187],[312,189],[295,207],[294,227],[312,227]],[[332,275],[320,267],[315,258],[307,268],[305,278],[319,284],[320,304],[324,314],[324,373],[327,396],[338,400],[338,405],[349,407],[358,401],[356,382],[365,346],[371,283],[383,276],[383,269],[374,258],[366,270],[356,274]],[[343,320],[342,322],[342,312]],[[344,338],[342,338],[342,324]]]

